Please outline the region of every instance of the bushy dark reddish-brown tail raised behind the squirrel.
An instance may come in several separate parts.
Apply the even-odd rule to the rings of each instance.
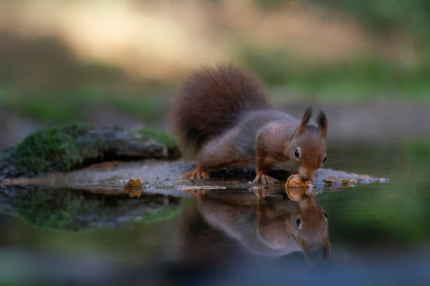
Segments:
[[[204,67],[191,74],[173,102],[174,130],[200,148],[237,123],[243,111],[269,107],[263,83],[234,65]]]

